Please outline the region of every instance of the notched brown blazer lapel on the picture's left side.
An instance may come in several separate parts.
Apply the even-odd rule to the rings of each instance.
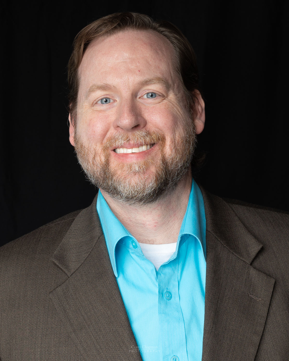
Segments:
[[[96,199],[79,213],[52,257],[68,278],[50,297],[86,360],[141,361],[109,260]]]

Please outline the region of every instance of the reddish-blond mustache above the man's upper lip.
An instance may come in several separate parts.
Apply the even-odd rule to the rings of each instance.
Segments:
[[[120,148],[124,143],[143,143],[154,144],[159,143],[160,146],[165,142],[164,134],[156,131],[137,130],[133,133],[119,133],[112,135],[103,145],[104,150]]]

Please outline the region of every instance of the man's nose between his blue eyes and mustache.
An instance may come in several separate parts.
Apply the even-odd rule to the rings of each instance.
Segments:
[[[132,101],[123,101],[118,106],[118,112],[113,127],[126,132],[141,130],[146,126],[146,119],[141,114],[141,109]]]

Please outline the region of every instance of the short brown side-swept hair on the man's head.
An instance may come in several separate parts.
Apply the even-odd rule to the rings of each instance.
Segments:
[[[199,90],[196,56],[182,32],[168,21],[154,21],[144,14],[115,13],[93,21],[79,31],[74,39],[72,55],[68,62],[69,112],[73,123],[76,120],[78,68],[86,48],[97,38],[125,30],[156,31],[171,42],[177,56],[177,73],[183,83],[188,105],[195,104],[195,98],[190,92]]]

